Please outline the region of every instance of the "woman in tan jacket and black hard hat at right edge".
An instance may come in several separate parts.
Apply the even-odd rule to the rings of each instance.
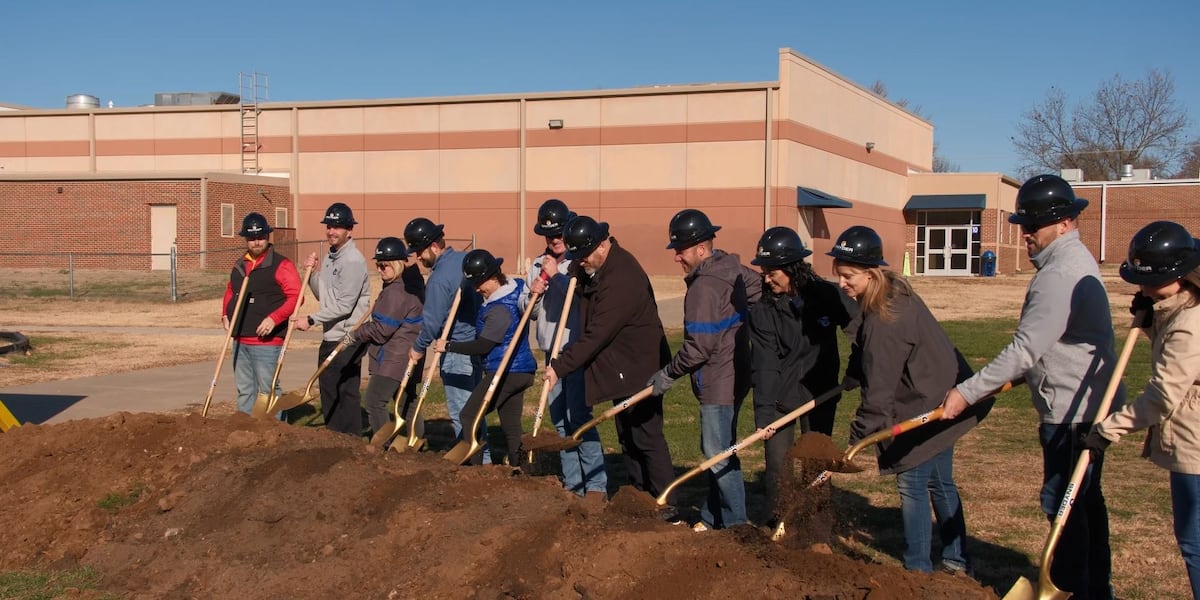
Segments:
[[[1200,599],[1200,240],[1177,223],[1157,221],[1129,242],[1121,278],[1141,287],[1133,311],[1151,338],[1150,382],[1084,440],[1093,454],[1132,431],[1150,428],[1142,456],[1171,472],[1175,539]]]

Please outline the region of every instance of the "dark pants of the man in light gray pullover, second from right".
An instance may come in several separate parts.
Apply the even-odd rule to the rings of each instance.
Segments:
[[[1054,522],[1058,505],[1084,449],[1084,437],[1092,424],[1042,424],[1042,511]],[[1050,563],[1050,581],[1073,600],[1112,598],[1112,553],[1109,548],[1109,509],[1104,503],[1100,476],[1104,456],[1087,466],[1075,491],[1074,504],[1063,524],[1062,536]]]

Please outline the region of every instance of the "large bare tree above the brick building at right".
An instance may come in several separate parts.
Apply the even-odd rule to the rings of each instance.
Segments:
[[[1013,144],[1022,176],[1067,168],[1084,169],[1085,179],[1114,180],[1123,164],[1168,172],[1182,156],[1188,126],[1175,80],[1152,70],[1135,82],[1114,76],[1090,102],[1075,106],[1050,88],[1018,122]]]

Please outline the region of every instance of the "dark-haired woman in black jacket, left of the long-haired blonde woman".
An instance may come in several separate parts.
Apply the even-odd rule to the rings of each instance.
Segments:
[[[750,308],[754,361],[754,420],[760,430],[800,404],[838,386],[841,359],[838,329],[858,313],[858,306],[838,286],[818,277],[804,258],[812,251],[787,227],[767,229],[750,262],[762,268],[766,294]],[[829,436],[840,395],[800,419],[800,431]],[[787,485],[787,451],[796,439],[794,422],[764,436],[769,522],[778,523],[780,485]]]

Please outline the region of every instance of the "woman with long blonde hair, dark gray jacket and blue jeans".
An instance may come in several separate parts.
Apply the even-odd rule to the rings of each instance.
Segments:
[[[858,301],[847,328],[852,349],[847,379],[862,385],[850,444],[937,408],[946,390],[971,374],[962,355],[908,282],[884,269],[883,242],[868,227],[851,227],[833,250],[834,271]],[[930,502],[942,540],[941,569],[970,574],[966,522],[954,484],[954,443],[991,408],[982,401],[953,421],[935,421],[878,444],[881,474],[896,475],[904,520],[905,569],[930,572]]]

